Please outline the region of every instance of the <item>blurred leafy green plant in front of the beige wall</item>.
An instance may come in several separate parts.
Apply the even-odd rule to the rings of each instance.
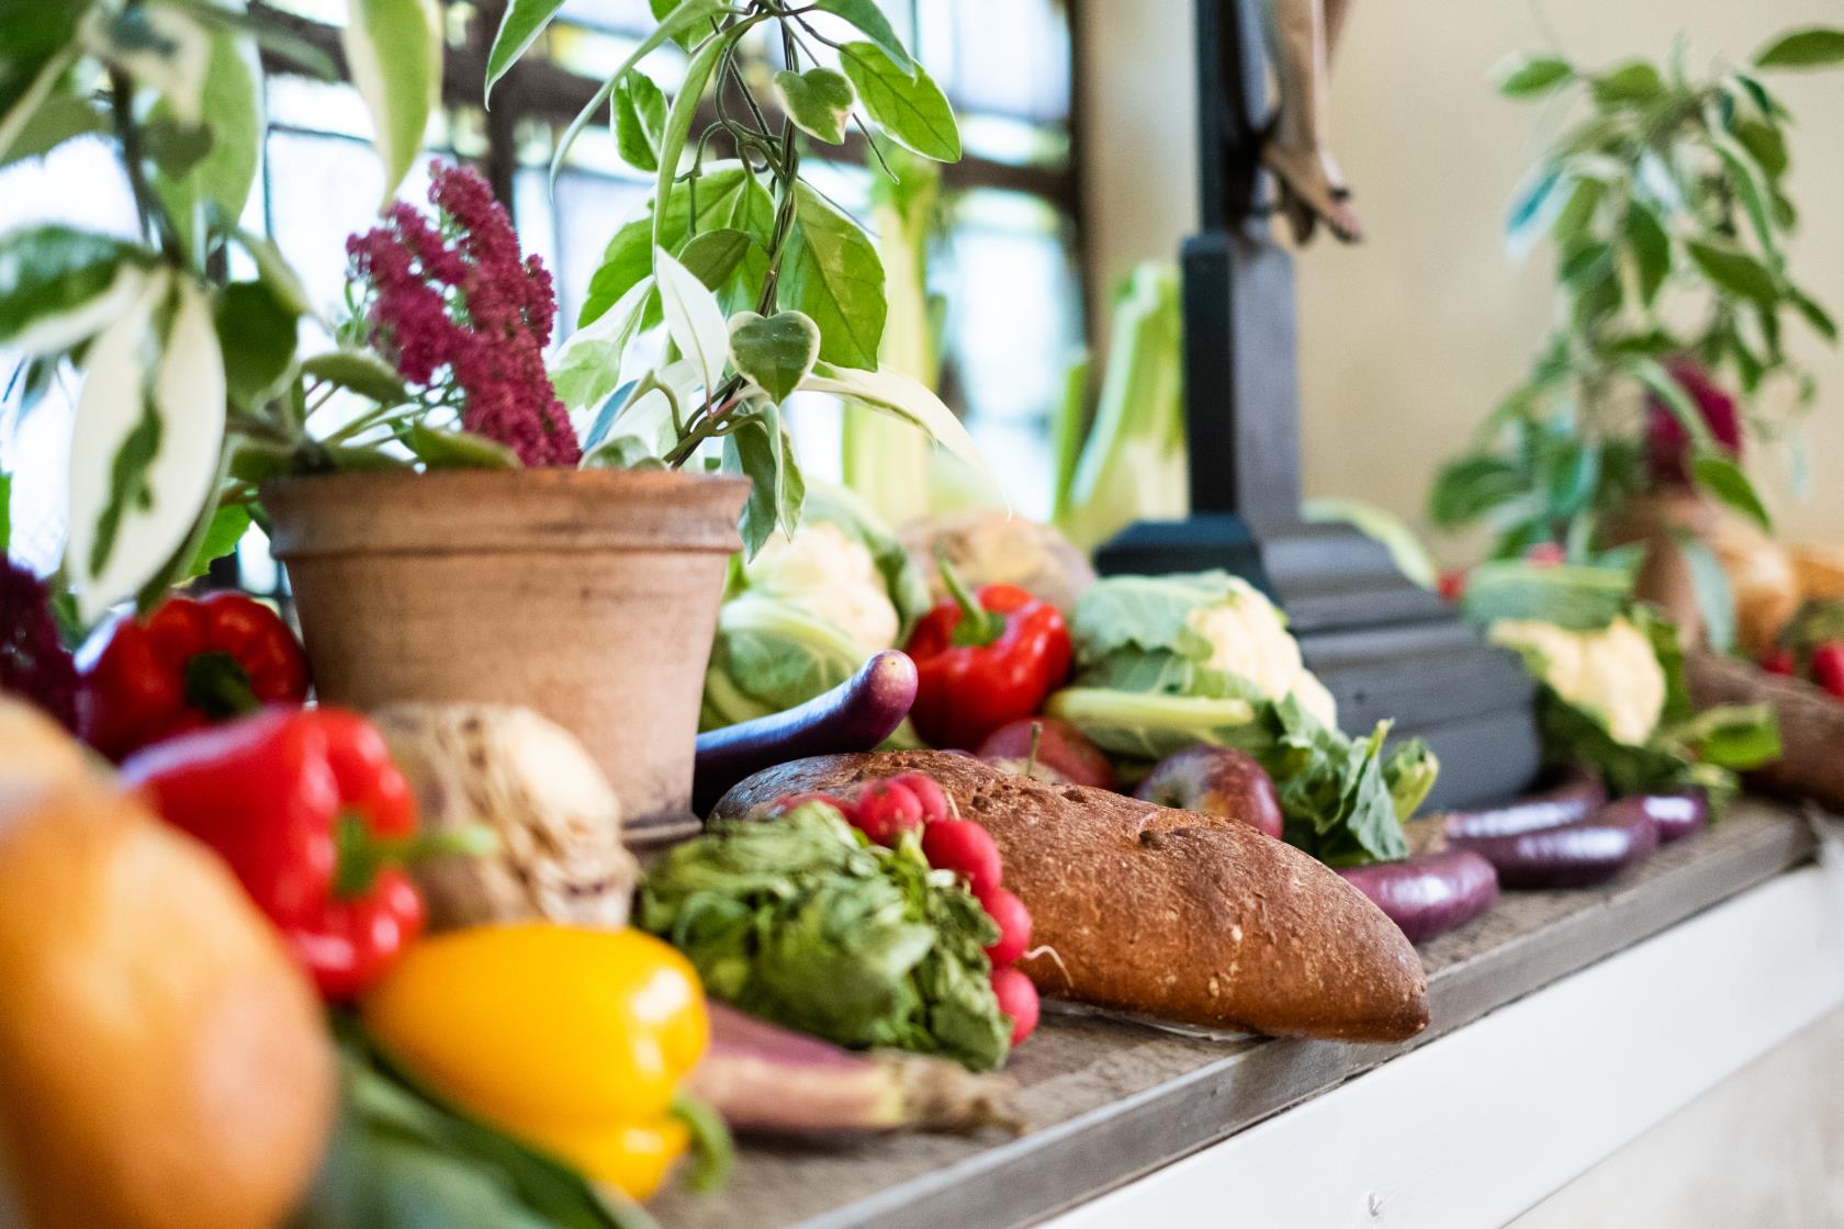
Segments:
[[[1791,385],[1803,409],[1813,381],[1783,334],[1838,332],[1787,260],[1791,112],[1767,79],[1838,63],[1840,29],[1798,29],[1704,74],[1682,41],[1663,64],[1602,72],[1558,55],[1507,61],[1505,96],[1575,92],[1584,105],[1507,221],[1514,251],[1553,240],[1558,321],[1529,378],[1436,477],[1436,527],[1488,527],[1494,558],[1590,562],[1637,542],[1641,597],[1684,625],[1733,623],[1715,555],[1733,555],[1737,534],[1741,555],[1757,555],[1768,529],[1743,453],[1792,427],[1761,394]]]

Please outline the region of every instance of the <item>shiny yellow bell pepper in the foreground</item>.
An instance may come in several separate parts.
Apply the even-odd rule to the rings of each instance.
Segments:
[[[692,964],[640,931],[472,927],[409,947],[361,1004],[408,1069],[481,1118],[645,1200],[692,1133],[710,1043]]]

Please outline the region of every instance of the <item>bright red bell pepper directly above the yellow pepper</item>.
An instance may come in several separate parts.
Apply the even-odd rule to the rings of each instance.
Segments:
[[[433,842],[358,713],[269,709],[149,746],[122,778],[229,862],[326,999],[356,997],[422,932],[400,864]]]

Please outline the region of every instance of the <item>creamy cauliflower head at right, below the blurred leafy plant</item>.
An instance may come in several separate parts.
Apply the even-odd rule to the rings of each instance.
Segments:
[[[1571,632],[1538,619],[1492,625],[1492,643],[1516,649],[1558,696],[1591,713],[1617,743],[1643,746],[1665,713],[1665,671],[1630,619]]]

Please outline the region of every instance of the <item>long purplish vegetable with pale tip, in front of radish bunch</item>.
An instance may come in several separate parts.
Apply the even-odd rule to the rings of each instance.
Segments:
[[[692,1093],[745,1135],[1018,1130],[1016,1085],[946,1058],[852,1054],[710,1002],[710,1050]]]

